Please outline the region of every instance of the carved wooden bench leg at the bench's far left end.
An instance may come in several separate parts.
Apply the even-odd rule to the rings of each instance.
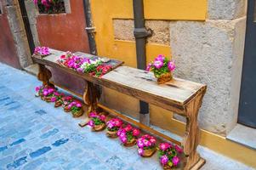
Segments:
[[[39,72],[37,75],[37,79],[43,82],[43,86],[49,86],[54,88],[54,84],[49,82],[49,79],[52,77],[51,71],[49,71],[45,65],[39,64]]]

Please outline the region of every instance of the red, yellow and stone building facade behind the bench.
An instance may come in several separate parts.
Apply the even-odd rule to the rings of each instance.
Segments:
[[[0,14],[3,34],[0,37],[0,61],[25,68],[31,65],[31,54],[19,3],[15,0],[0,2],[3,13]],[[98,54],[136,67],[133,1],[92,0],[90,3]],[[25,6],[35,46],[88,53],[82,1],[65,0],[65,14],[39,14],[32,0],[26,0]],[[248,19],[254,17],[254,12],[247,7],[254,6],[256,4],[250,0],[144,1],[145,26],[153,31],[146,44],[147,62],[157,54],[164,54],[174,59],[177,65],[175,77],[207,84],[208,91],[199,115],[202,145],[251,166],[256,164],[248,156],[256,156],[256,151],[226,137],[240,122],[239,117],[244,116],[240,112],[245,107],[240,94],[247,87],[242,89],[242,83],[246,79],[253,80],[253,77],[245,78],[242,70],[249,67],[245,65],[244,56],[250,45],[245,44],[249,44],[246,35],[251,34],[247,31]],[[65,79],[57,81],[65,84]],[[76,83],[74,90],[82,93],[82,82],[77,80]],[[101,102],[105,105],[139,118],[137,99],[107,88],[103,89],[103,94]],[[253,108],[253,104],[250,107]],[[150,116],[153,125],[177,134],[185,131],[185,120],[174,113],[150,105]],[[234,149],[243,150],[244,154],[234,155]]]

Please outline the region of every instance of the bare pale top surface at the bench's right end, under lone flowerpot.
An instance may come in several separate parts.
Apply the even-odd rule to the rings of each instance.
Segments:
[[[189,82],[179,78],[174,78],[170,82],[158,85],[152,73],[128,66],[120,66],[115,71],[103,76],[102,79],[109,82],[117,82],[120,86],[143,91],[145,94],[153,94],[166,100],[172,100],[178,105],[185,105],[197,92],[205,88],[200,83]]]

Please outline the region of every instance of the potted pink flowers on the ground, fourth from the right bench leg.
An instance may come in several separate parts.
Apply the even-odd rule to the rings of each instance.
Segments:
[[[117,132],[120,128],[122,128],[122,120],[112,118],[109,122],[106,122],[106,135],[111,138],[117,138]]]

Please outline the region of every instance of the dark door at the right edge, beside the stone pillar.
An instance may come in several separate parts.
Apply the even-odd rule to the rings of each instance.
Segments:
[[[248,0],[247,5],[238,122],[256,128],[256,0]]]

